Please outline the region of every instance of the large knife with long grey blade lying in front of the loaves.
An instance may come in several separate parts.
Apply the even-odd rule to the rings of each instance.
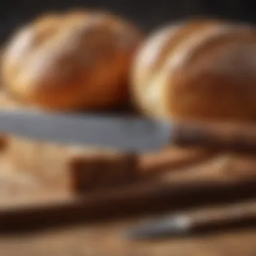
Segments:
[[[172,143],[256,150],[256,126],[179,123],[142,117],[0,110],[0,134],[38,141],[154,151]]]

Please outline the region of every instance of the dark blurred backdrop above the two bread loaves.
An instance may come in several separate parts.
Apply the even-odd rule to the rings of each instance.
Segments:
[[[207,16],[244,22],[256,22],[255,0],[7,0],[1,3],[1,41],[13,28],[44,11],[69,7],[109,9],[124,15],[150,31],[172,20]]]

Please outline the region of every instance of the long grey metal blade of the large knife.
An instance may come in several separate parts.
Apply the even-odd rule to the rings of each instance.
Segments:
[[[158,150],[166,145],[170,139],[170,125],[134,117],[0,110],[0,133],[140,152]]]

